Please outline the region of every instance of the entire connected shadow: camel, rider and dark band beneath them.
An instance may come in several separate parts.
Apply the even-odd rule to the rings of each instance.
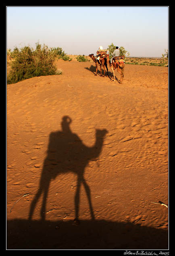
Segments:
[[[69,116],[63,116],[62,130],[50,133],[40,185],[30,205],[29,220],[7,221],[7,249],[168,250],[168,231],[165,229],[155,229],[130,222],[95,219],[90,187],[83,174],[90,159],[100,155],[107,130],[96,129],[95,143],[92,147],[87,147],[79,136],[71,131],[71,122]],[[77,191],[74,202],[76,221],[46,220],[46,200],[50,181],[59,174],[68,172],[74,172],[77,175]],[[81,185],[84,186],[88,197],[91,220],[79,221],[78,219]],[[41,220],[32,220],[33,212],[42,194]]]

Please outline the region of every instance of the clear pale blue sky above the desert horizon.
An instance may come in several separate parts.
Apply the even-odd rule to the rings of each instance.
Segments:
[[[46,44],[72,55],[111,43],[133,57],[162,57],[169,46],[168,6],[6,6],[6,46]]]

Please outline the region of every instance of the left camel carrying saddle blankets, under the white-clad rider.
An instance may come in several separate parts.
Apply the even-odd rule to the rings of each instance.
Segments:
[[[100,76],[102,76],[102,77],[105,76],[105,67],[106,67],[106,72],[107,72],[107,76],[108,76],[106,52],[107,52],[107,50],[99,49],[97,51],[97,56],[98,56],[97,59],[95,58],[93,53],[89,55],[89,57],[91,57],[91,59],[96,63],[96,73],[95,73],[95,76],[97,76],[98,66],[100,66]],[[102,75],[102,67],[103,67],[103,70],[104,70],[104,75]]]

